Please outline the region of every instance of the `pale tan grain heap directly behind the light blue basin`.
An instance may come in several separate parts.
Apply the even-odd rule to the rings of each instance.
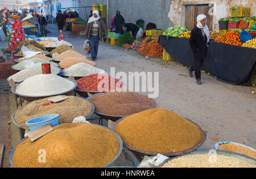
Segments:
[[[38,116],[47,114],[60,114],[59,123],[72,123],[75,117],[88,116],[92,112],[92,104],[89,101],[76,96],[61,96],[68,97],[64,101],[49,103],[48,97],[42,100],[32,101],[15,113],[15,121],[24,127],[28,127],[26,122]]]

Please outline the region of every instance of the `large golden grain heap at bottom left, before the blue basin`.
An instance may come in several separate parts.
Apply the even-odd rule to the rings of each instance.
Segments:
[[[65,123],[42,138],[20,143],[13,155],[16,168],[100,168],[117,156],[119,140],[110,130],[89,123]],[[38,151],[46,151],[46,163]],[[26,151],[26,152],[24,152]]]

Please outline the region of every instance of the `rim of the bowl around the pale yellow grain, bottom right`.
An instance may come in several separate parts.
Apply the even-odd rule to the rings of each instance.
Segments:
[[[189,154],[185,154],[185,155],[193,155],[193,154],[209,154],[209,151],[210,149],[200,149],[200,150],[197,150],[197,151],[194,151],[194,152],[191,152]],[[225,155],[225,156],[228,156],[228,157],[236,157],[240,160],[243,160],[243,161],[248,161],[248,162],[251,162],[251,163],[254,163],[256,164],[256,159],[254,158],[251,158],[249,156],[246,156],[246,155],[242,155],[242,154],[238,154],[238,153],[234,153],[234,152],[229,152],[229,151],[223,151],[223,150],[215,150],[216,151],[216,154],[218,155]],[[212,154],[212,153],[211,153]],[[184,155],[183,155],[184,156]],[[162,165],[160,165],[160,167],[162,167],[164,164],[166,164],[168,161],[170,160],[174,160],[174,159],[177,159],[178,157],[180,156],[176,156],[176,157],[171,157],[170,159],[167,159],[165,160]]]

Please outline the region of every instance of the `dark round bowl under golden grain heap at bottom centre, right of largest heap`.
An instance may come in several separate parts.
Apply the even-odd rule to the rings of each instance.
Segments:
[[[126,117],[123,117],[121,119],[119,119],[116,123],[122,121],[123,119],[125,119]],[[180,151],[180,152],[168,152],[168,153],[159,153],[159,152],[147,152],[147,151],[143,151],[143,150],[139,150],[137,148],[131,147],[126,143],[123,143],[123,147],[128,148],[129,150],[133,151],[135,154],[138,154],[139,156],[144,156],[144,155],[152,155],[152,156],[156,156],[158,154],[162,154],[164,156],[178,156],[178,155],[183,155],[183,154],[188,154],[190,152],[193,152],[197,149],[199,149],[203,143],[205,142],[205,140],[207,139],[207,133],[205,133],[205,131],[203,129],[201,129],[201,127],[199,125],[197,125],[195,122],[189,120],[186,118],[186,120],[192,122],[193,124],[195,124],[197,127],[199,127],[199,129],[201,130],[201,133],[203,134],[203,137],[201,139],[201,141],[194,147],[189,148],[187,150],[184,151]]]

